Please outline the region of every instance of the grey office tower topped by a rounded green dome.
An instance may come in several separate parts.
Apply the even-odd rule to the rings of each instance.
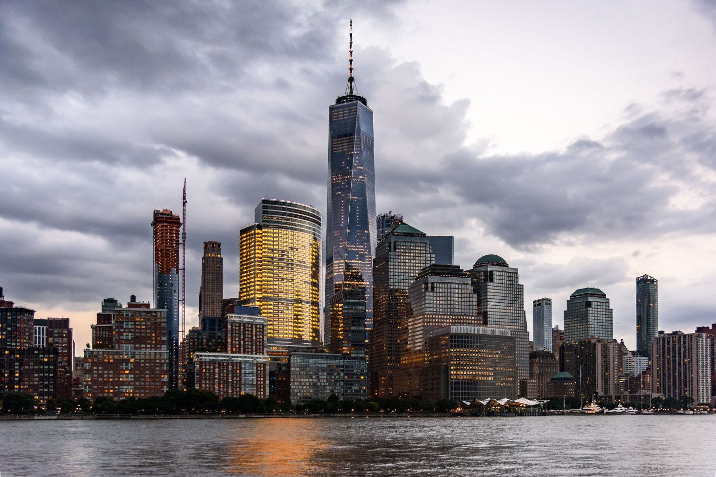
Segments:
[[[478,317],[483,326],[509,329],[515,337],[518,380],[529,377],[530,335],[518,269],[498,255],[485,255],[468,270],[478,295]]]

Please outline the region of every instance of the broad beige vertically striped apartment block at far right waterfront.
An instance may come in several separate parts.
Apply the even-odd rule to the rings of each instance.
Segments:
[[[652,341],[652,392],[710,403],[711,344],[706,333],[660,331]]]

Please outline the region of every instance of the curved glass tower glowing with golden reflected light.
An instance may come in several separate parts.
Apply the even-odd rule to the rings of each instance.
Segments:
[[[263,199],[256,223],[241,229],[241,304],[261,307],[269,354],[320,343],[321,213],[312,206]]]

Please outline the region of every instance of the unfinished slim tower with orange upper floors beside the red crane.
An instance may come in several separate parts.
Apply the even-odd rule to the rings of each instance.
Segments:
[[[154,211],[154,303],[167,310],[169,387],[179,379],[179,216],[168,209]]]

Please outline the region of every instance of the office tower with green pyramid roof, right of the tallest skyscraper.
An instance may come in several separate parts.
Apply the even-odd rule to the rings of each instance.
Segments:
[[[371,395],[394,394],[392,375],[400,368],[400,324],[410,310],[408,289],[420,271],[434,261],[425,233],[407,223],[399,223],[378,242],[369,337]]]

